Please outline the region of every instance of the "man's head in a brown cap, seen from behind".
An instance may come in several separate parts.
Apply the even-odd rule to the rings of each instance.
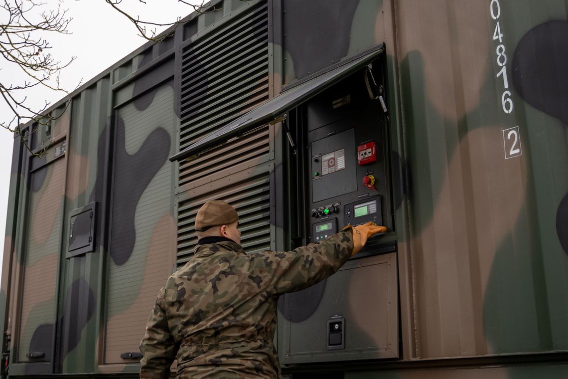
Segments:
[[[222,200],[210,200],[203,204],[195,217],[197,238],[220,236],[241,243],[239,215],[232,206]]]

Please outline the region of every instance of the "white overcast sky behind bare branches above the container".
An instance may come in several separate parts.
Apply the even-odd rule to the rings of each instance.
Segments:
[[[112,9],[104,0],[46,0],[48,7],[69,9],[68,15],[73,18],[69,24],[72,35],[48,35],[44,37],[52,45],[52,55],[57,60],[66,61],[70,57],[77,59],[71,66],[61,72],[61,86],[73,90],[81,81],[83,83],[101,73],[103,70],[127,56],[147,41],[137,35],[134,25],[118,11]],[[139,15],[141,20],[165,23],[173,22],[178,16],[182,18],[193,12],[193,7],[178,0],[123,0],[121,7],[131,15]],[[202,4],[201,0],[186,2]],[[6,14],[0,11],[0,23],[6,22]],[[165,28],[161,28],[164,30]],[[158,30],[160,31],[160,30]],[[0,34],[1,38],[1,34]],[[7,63],[0,57],[0,82],[5,85],[18,84],[23,80],[20,69]],[[64,93],[54,93],[45,88],[34,88],[27,94],[28,105],[41,107],[45,100],[55,103],[64,97]],[[0,118],[7,120],[10,109],[0,101]],[[11,117],[10,117],[11,119]],[[6,130],[0,130],[0,246],[4,246],[6,230],[7,205],[9,198],[10,167],[14,139]],[[2,260],[0,259],[0,272]]]

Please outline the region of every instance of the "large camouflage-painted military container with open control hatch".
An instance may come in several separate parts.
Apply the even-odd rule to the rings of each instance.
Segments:
[[[247,252],[388,228],[279,301],[287,378],[568,376],[561,0],[222,0],[14,141],[2,376],[136,377],[208,199]],[[44,152],[43,154],[38,154]]]

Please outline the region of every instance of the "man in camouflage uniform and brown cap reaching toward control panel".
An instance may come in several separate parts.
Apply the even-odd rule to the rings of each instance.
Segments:
[[[197,213],[195,255],[158,292],[140,343],[140,378],[281,377],[273,339],[278,296],[324,280],[371,235],[367,223],[290,252],[245,254],[237,212],[219,200]]]

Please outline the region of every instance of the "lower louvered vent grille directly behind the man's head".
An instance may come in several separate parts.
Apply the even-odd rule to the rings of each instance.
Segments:
[[[177,263],[185,264],[197,244],[195,216],[204,202],[221,199],[239,214],[241,245],[247,253],[270,249],[270,176],[268,173],[179,203]]]

